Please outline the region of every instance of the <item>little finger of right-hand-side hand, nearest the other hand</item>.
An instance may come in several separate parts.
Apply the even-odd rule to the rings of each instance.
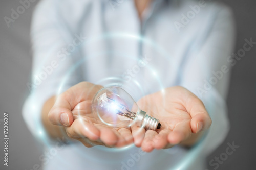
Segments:
[[[136,145],[136,147],[141,147],[141,143],[144,139],[145,133],[146,133],[145,128],[132,126],[132,135],[133,135],[134,144]]]

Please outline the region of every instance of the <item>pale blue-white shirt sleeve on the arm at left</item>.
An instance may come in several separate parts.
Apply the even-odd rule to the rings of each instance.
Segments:
[[[27,83],[30,95],[23,106],[23,117],[32,134],[41,140],[47,137],[41,123],[42,106],[81,79],[74,66],[83,40],[63,21],[57,1],[38,3],[31,25],[33,66],[31,82]]]

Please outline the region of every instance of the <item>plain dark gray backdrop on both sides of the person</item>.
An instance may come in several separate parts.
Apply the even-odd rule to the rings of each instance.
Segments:
[[[237,52],[243,47],[244,39],[256,41],[256,1],[255,0],[223,0],[232,7],[237,21]],[[21,108],[28,96],[26,83],[30,81],[31,47],[29,29],[32,11],[37,3],[20,14],[15,22],[7,27],[4,16],[10,17],[11,9],[20,6],[19,1],[6,0],[0,2],[0,119],[4,112],[9,113],[9,166],[3,165],[3,122],[0,122],[0,169],[33,169],[40,164],[42,154],[38,144],[28,131],[21,115]],[[256,46],[246,53],[233,67],[228,95],[229,118],[231,130],[223,144],[208,157],[208,162],[215,156],[225,152],[227,143],[239,145],[218,169],[255,169],[256,158]],[[208,164],[207,162],[207,164]],[[208,169],[213,169],[208,167]]]

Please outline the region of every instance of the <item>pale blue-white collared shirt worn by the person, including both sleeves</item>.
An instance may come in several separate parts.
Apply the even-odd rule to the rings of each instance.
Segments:
[[[141,23],[132,0],[44,0],[34,12],[31,37],[31,94],[23,116],[51,151],[51,157],[39,158],[45,169],[203,169],[204,158],[224,140],[229,129],[227,58],[234,42],[233,17],[226,6],[159,0],[143,13]],[[81,81],[121,86],[136,101],[183,86],[204,102],[212,126],[190,150],[177,146],[145,154],[136,147],[59,147],[42,127],[41,107]]]

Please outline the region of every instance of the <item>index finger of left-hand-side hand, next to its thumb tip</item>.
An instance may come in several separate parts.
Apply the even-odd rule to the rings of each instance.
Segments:
[[[90,140],[97,140],[100,137],[100,130],[82,118],[75,119],[72,126],[66,128],[66,131],[71,138],[87,137]]]

